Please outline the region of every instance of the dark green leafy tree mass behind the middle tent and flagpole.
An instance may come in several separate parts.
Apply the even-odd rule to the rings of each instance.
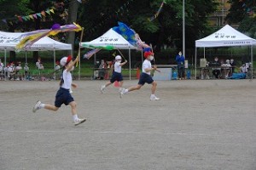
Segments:
[[[137,31],[143,41],[152,43],[155,50],[167,44],[182,48],[182,1],[166,0],[159,15],[156,14],[162,0],[88,0],[79,9],[79,22],[85,29],[85,38],[94,39],[109,28],[124,22]],[[186,47],[194,48],[195,40],[206,34],[207,16],[212,14],[218,3],[213,0],[186,0]]]

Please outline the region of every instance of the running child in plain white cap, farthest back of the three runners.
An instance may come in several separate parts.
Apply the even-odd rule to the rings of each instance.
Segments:
[[[127,60],[125,59],[125,62],[123,62],[123,63],[121,63],[121,61],[122,61],[121,56],[117,55],[115,57],[115,63],[114,63],[114,66],[113,66],[114,70],[113,70],[112,77],[111,77],[110,81],[107,82],[107,84],[102,85],[102,88],[101,88],[102,94],[103,94],[104,89],[107,88],[110,84],[112,84],[115,81],[119,82],[119,85],[120,85],[119,92],[122,91],[122,89],[123,89],[122,87],[123,87],[124,81],[123,81],[123,76],[121,74],[121,71],[122,71],[122,66],[127,63]]]

